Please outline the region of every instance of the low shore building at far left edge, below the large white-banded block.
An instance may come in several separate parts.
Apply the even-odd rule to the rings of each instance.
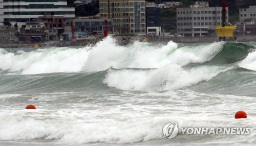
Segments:
[[[9,26],[0,26],[0,45],[17,41],[17,30]]]

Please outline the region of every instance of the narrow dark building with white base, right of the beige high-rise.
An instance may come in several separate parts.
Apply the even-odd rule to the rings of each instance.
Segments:
[[[147,36],[160,36],[161,34],[160,8],[146,6],[146,32]]]

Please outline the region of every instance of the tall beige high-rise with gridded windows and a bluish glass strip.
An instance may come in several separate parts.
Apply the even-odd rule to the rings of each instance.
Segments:
[[[113,19],[114,33],[145,35],[145,0],[99,0],[101,18]]]

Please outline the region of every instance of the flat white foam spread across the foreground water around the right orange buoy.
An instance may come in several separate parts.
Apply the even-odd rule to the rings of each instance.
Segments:
[[[135,94],[131,96],[129,92],[123,94],[122,97],[106,98],[103,101],[96,98],[92,101],[100,101],[98,104],[73,103],[78,109],[1,110],[0,140],[42,138],[63,145],[90,142],[133,143],[163,138],[161,131],[164,124],[176,121],[179,127],[251,128],[249,135],[219,134],[211,135],[209,139],[185,135],[188,139],[193,137],[187,143],[183,141],[184,136],[180,136],[181,131],[179,131],[180,134],[175,139],[181,145],[195,141],[205,143],[211,140],[220,141],[221,144],[229,140],[248,143],[248,139],[251,139],[250,142],[255,142],[253,137],[256,135],[254,131],[256,123],[251,108],[255,104],[250,102],[254,98],[207,95],[188,90],[148,92],[136,96]],[[115,104],[109,106],[112,102]],[[240,102],[247,104],[238,104]],[[227,104],[229,106],[226,106]],[[43,107],[46,108],[47,104],[41,106]],[[248,118],[234,119],[237,110],[245,110]]]

